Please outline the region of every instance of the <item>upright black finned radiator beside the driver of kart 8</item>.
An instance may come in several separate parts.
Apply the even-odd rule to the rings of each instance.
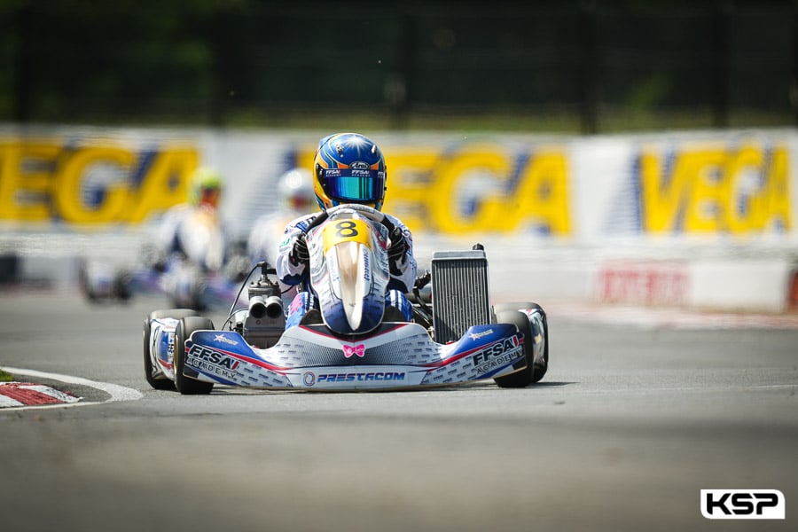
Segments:
[[[484,250],[435,252],[432,294],[436,342],[459,340],[471,325],[489,324],[488,259]]]

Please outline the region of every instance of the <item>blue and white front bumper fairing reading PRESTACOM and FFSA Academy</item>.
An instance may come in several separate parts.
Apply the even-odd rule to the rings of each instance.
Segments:
[[[184,374],[246,387],[377,389],[441,386],[490,379],[524,362],[512,325],[478,325],[441,345],[415,324],[381,325],[369,338],[341,341],[324,325],[301,325],[273,348],[249,346],[236,332],[194,332]],[[167,342],[168,345],[168,342]]]

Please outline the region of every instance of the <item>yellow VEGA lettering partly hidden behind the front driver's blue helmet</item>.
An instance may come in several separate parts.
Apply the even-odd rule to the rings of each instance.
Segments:
[[[297,160],[312,164],[313,155]],[[508,232],[534,223],[552,234],[571,233],[564,153],[513,160],[496,146],[469,145],[458,153],[391,152],[386,164],[384,210],[411,231]],[[520,173],[514,185],[513,171]]]

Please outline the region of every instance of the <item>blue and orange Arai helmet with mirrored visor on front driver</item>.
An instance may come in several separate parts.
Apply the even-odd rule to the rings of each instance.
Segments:
[[[385,158],[374,142],[358,133],[336,133],[318,143],[313,161],[313,186],[318,206],[341,203],[382,208],[385,200]]]

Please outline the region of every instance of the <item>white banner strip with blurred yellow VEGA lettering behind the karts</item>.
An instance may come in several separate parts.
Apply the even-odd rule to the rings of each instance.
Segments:
[[[618,137],[370,132],[385,209],[413,231],[608,237],[794,238],[790,130]],[[223,215],[246,233],[277,207],[278,177],[311,168],[325,132],[0,129],[0,223],[137,225],[183,202],[192,170],[225,176]]]

